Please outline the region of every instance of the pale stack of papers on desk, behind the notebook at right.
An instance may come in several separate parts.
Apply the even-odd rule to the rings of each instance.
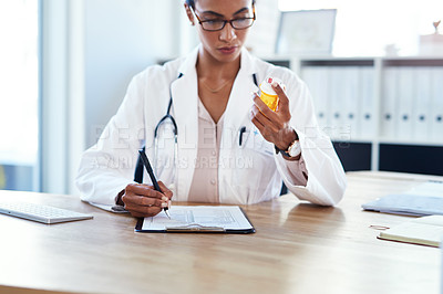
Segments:
[[[361,207],[396,214],[443,214],[443,182],[423,182],[403,193],[388,195]]]

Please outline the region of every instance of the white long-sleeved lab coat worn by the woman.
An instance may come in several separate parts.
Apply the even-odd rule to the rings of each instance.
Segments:
[[[178,165],[173,200],[186,201],[197,156],[197,74],[198,48],[187,57],[150,66],[131,82],[115,116],[111,118],[97,144],[82,157],[76,186],[85,201],[114,204],[116,195],[133,181],[137,150],[145,143],[146,155],[154,157],[154,128],[165,115],[173,96],[172,114],[178,126]],[[179,74],[181,78],[177,78]],[[308,182],[299,186],[288,172],[288,161],[276,155],[250,122],[251,92],[266,76],[286,83],[290,99],[291,126],[296,129],[308,170]],[[241,146],[239,130],[246,127]],[[171,153],[166,153],[171,154]],[[222,203],[250,204],[279,196],[281,180],[299,199],[332,206],[343,196],[347,180],[341,162],[328,136],[320,132],[306,84],[291,71],[274,66],[241,51],[241,63],[224,114],[219,151],[218,189]],[[293,161],[292,161],[293,164]],[[157,175],[167,179],[166,169]],[[144,181],[150,178],[144,175]]]

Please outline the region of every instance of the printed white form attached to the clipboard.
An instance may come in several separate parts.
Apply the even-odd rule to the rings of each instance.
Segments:
[[[173,206],[168,212],[171,220],[163,211],[155,217],[145,218],[142,230],[164,231],[167,228],[189,224],[217,227],[225,230],[253,228],[239,207]]]

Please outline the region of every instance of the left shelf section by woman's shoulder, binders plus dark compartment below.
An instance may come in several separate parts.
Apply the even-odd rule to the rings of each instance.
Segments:
[[[264,60],[290,67],[307,83],[319,125],[332,138],[344,169],[371,169],[374,160],[372,141],[377,130],[373,123],[377,122],[374,60],[298,60],[288,56],[268,56]],[[348,81],[350,87],[347,86]],[[347,96],[341,94],[342,88]],[[346,101],[341,101],[344,97]],[[346,108],[343,104],[349,107]]]

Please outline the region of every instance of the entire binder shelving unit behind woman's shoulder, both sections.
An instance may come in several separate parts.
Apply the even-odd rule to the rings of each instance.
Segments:
[[[346,170],[443,175],[443,59],[319,57],[291,67]],[[414,153],[421,161],[402,164]]]

